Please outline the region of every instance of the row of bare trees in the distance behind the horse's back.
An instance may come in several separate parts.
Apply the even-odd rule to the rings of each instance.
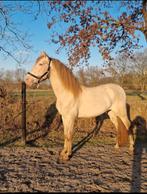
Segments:
[[[147,89],[147,50],[136,52],[133,57],[119,54],[108,66],[88,66],[77,71],[82,84],[94,86],[104,83],[117,83],[125,89]]]

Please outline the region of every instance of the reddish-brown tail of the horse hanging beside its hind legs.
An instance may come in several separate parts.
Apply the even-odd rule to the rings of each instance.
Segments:
[[[129,133],[126,126],[118,116],[117,121],[118,121],[118,145],[124,146],[128,143]]]

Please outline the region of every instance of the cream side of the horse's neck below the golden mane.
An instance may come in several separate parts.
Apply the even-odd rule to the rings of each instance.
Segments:
[[[50,82],[56,98],[61,98],[65,89],[61,83],[61,80],[59,79],[57,72],[53,67],[51,67],[50,69]]]

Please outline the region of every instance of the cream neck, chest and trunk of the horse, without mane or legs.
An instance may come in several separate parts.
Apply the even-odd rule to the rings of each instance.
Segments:
[[[111,110],[119,102],[125,103],[124,90],[116,84],[104,84],[95,87],[81,85],[80,95],[74,98],[70,91],[65,90],[53,67],[50,72],[50,82],[57,98],[56,108],[61,115],[72,112],[78,118],[95,117]]]

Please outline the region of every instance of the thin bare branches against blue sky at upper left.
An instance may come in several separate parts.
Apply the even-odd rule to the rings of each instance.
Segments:
[[[17,14],[30,14],[35,20],[40,9],[39,1],[0,1],[0,54],[11,57],[18,64],[23,61],[17,55],[20,51],[32,49],[30,34],[21,29],[22,24],[16,23],[15,17]]]

